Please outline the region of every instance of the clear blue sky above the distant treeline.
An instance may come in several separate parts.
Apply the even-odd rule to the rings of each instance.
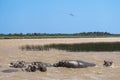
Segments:
[[[0,33],[93,31],[120,33],[120,0],[0,0]]]

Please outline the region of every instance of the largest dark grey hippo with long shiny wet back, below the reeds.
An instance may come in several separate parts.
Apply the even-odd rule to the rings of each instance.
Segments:
[[[53,64],[54,67],[67,67],[67,68],[86,68],[94,67],[95,63],[85,62],[81,60],[62,60]]]

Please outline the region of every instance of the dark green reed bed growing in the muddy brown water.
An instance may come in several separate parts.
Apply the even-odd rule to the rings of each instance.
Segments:
[[[120,42],[99,42],[99,43],[79,43],[79,44],[49,44],[49,45],[25,45],[20,47],[27,51],[42,51],[42,50],[65,50],[69,52],[80,51],[120,51]]]

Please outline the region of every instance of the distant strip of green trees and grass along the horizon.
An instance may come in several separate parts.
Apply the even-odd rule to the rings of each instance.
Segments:
[[[89,38],[89,37],[120,37],[120,34],[111,34],[108,32],[82,32],[74,34],[59,34],[59,33],[0,34],[0,39]]]

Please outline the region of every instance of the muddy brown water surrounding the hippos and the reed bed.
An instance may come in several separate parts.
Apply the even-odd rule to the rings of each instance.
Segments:
[[[0,80],[119,80],[120,52],[66,52],[21,51],[22,45],[44,45],[52,43],[120,42],[120,38],[58,38],[58,39],[12,39],[0,40],[0,71],[9,69],[9,63],[16,60],[28,62],[43,61],[56,63],[59,60],[83,60],[94,62],[96,67],[89,68],[53,68],[47,72],[0,72]],[[104,60],[112,60],[112,67],[104,67]]]

